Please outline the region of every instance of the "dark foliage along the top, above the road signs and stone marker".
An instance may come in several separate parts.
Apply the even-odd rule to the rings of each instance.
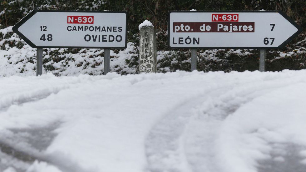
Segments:
[[[157,30],[167,30],[167,15],[170,10],[282,10],[305,27],[304,0],[4,0],[0,16],[2,27],[15,25],[34,9],[41,10],[94,10],[127,11],[130,36],[138,33],[138,25],[150,20]],[[131,38],[131,37],[130,37]]]

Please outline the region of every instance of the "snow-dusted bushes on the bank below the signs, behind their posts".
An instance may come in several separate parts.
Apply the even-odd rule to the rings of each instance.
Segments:
[[[301,34],[303,35],[303,34]],[[166,32],[158,32],[158,72],[175,70],[190,71],[190,50],[169,50],[166,47]],[[139,38],[134,34],[126,49],[111,49],[110,70],[119,74],[138,73]],[[288,48],[290,51],[267,51],[267,70],[305,68],[306,39]],[[257,70],[257,50],[253,49],[199,49],[198,70],[230,72],[232,70]],[[285,60],[286,59],[286,60]],[[285,60],[285,61],[284,61]],[[289,62],[288,62],[289,60]],[[284,61],[284,62],[283,62]],[[294,65],[290,64],[294,63]],[[274,65],[274,66],[273,66]],[[43,73],[54,75],[101,75],[104,69],[104,49],[44,48]],[[35,75],[36,48],[31,48],[16,33],[12,26],[0,29],[0,77],[11,75]]]

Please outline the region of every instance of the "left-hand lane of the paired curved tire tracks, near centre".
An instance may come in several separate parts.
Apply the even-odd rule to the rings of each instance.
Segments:
[[[205,94],[221,93],[222,87],[218,87],[207,89]],[[192,171],[185,155],[185,128],[196,114],[196,109],[199,109],[203,101],[207,99],[205,94],[177,105],[151,129],[145,142],[147,170],[151,172]]]

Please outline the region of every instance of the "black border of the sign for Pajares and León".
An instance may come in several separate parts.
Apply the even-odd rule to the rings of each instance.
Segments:
[[[282,44],[280,44],[278,47],[171,47],[170,46],[170,13],[279,13],[282,15],[286,20],[288,20],[294,27],[298,29],[291,37],[289,37],[287,40],[285,40]],[[295,23],[289,16],[287,16],[284,12],[282,11],[169,11],[168,12],[168,42],[167,45],[171,49],[202,49],[202,48],[207,48],[207,49],[280,49],[285,47],[293,38],[298,36],[303,29]]]

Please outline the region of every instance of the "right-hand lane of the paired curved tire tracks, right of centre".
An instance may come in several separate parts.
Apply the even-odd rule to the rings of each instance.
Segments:
[[[232,95],[231,95],[232,96]],[[230,96],[230,97],[231,97]],[[234,97],[231,97],[234,100]],[[238,98],[240,99],[240,98]],[[240,102],[241,101],[241,102]],[[240,99],[237,104],[228,104],[228,98],[205,101],[197,115],[186,127],[185,153],[193,172],[221,172],[216,157],[216,140],[223,120],[250,99]]]

